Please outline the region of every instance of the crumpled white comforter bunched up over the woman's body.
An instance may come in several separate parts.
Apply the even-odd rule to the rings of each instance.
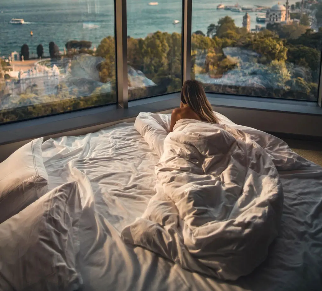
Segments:
[[[123,229],[123,240],[208,276],[236,280],[250,274],[278,235],[278,170],[308,165],[285,143],[279,140],[275,150],[276,138],[252,131],[178,121],[156,165],[156,194]]]

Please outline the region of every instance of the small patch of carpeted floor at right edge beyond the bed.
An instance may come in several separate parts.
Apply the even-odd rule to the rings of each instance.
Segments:
[[[299,155],[322,166],[322,142],[291,139],[283,140]]]

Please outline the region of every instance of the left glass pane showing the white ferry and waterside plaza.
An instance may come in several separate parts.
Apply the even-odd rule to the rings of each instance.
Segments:
[[[113,0],[0,4],[0,123],[115,103]]]

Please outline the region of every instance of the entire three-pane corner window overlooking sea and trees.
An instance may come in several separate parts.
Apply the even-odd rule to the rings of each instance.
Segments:
[[[192,11],[187,11],[190,1]],[[183,69],[190,64],[190,41],[188,71],[207,92],[317,102],[320,1],[184,3],[1,1],[0,124],[118,101],[126,107],[126,98],[178,92],[183,76],[189,75]],[[123,25],[115,27],[125,18],[127,33]],[[118,62],[115,28],[117,52],[122,54]],[[189,35],[182,37],[182,31]],[[126,59],[126,37],[127,64],[121,62]],[[126,84],[128,95],[120,93],[118,100],[117,91],[126,95]]]

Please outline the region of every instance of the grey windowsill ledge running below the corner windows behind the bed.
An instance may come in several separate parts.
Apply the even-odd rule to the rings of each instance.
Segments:
[[[242,123],[242,120],[234,119],[234,112],[236,112],[236,110],[239,110],[239,112],[241,110],[244,112],[249,112],[252,110],[255,112],[261,111],[266,113],[290,113],[292,116],[298,116],[298,114],[309,117],[313,116],[318,118],[317,120],[319,121],[319,124],[315,124],[315,126],[320,129],[322,136],[322,108],[318,107],[314,102],[244,97],[213,93],[207,93],[207,97],[214,106],[215,110],[229,115],[227,116],[228,118],[239,123]],[[180,93],[173,93],[131,101],[128,103],[128,109],[118,108],[117,105],[107,105],[99,108],[4,124],[0,126],[0,145],[30,140],[41,136],[52,136],[60,133],[63,135],[64,132],[68,131],[134,118],[140,112],[167,111],[179,106],[179,103]],[[227,113],[228,111],[229,113]],[[290,114],[287,115],[287,118],[289,118]],[[280,115],[279,119],[279,122],[283,122],[283,115]],[[308,121],[306,126],[312,126],[312,124],[309,124],[310,122],[312,121]],[[245,125],[251,126],[250,124]],[[252,127],[256,127],[256,120],[254,120],[254,125]],[[267,130],[270,130],[270,128],[267,128]]]

